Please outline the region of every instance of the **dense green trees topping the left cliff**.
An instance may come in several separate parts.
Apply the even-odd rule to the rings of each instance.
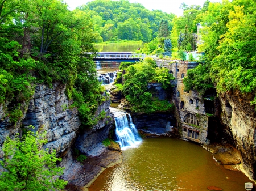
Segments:
[[[0,104],[11,122],[36,83],[67,84],[66,93],[79,108],[82,124],[91,125],[101,101],[92,55],[93,22],[84,11],[69,11],[59,0],[0,1]]]

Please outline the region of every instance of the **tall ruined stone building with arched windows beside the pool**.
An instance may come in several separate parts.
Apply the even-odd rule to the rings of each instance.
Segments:
[[[183,78],[187,75],[187,70],[198,65],[197,62],[188,61],[163,61],[156,60],[158,67],[166,67],[176,78],[173,88],[172,101],[176,108],[177,127],[184,139],[197,143],[209,143],[208,115],[207,111],[213,111],[214,106],[205,108],[205,98],[197,91],[184,90]]]

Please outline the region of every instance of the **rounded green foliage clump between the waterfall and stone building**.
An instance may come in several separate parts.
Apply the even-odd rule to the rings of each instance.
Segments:
[[[152,58],[147,58],[143,62],[130,65],[124,78],[122,92],[126,100],[133,105],[132,111],[152,113],[164,110],[157,107],[157,103],[154,104],[154,97],[148,92],[147,85],[150,82],[158,82],[162,83],[163,88],[170,87],[170,80],[174,77],[168,73],[168,69],[159,69]]]

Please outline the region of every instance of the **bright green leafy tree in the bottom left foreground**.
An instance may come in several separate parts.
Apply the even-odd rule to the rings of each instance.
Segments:
[[[46,132],[27,131],[21,139],[6,138],[3,144],[4,158],[0,162],[7,171],[2,172],[0,190],[60,190],[67,181],[55,178],[63,173],[56,167],[56,151],[49,153],[42,145],[47,143]]]

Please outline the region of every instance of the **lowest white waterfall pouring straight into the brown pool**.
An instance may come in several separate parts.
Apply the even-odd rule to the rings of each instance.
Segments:
[[[122,150],[137,147],[142,142],[130,114],[127,115],[129,116],[129,120],[127,119],[126,113],[114,112],[115,134],[117,135],[117,142]]]

